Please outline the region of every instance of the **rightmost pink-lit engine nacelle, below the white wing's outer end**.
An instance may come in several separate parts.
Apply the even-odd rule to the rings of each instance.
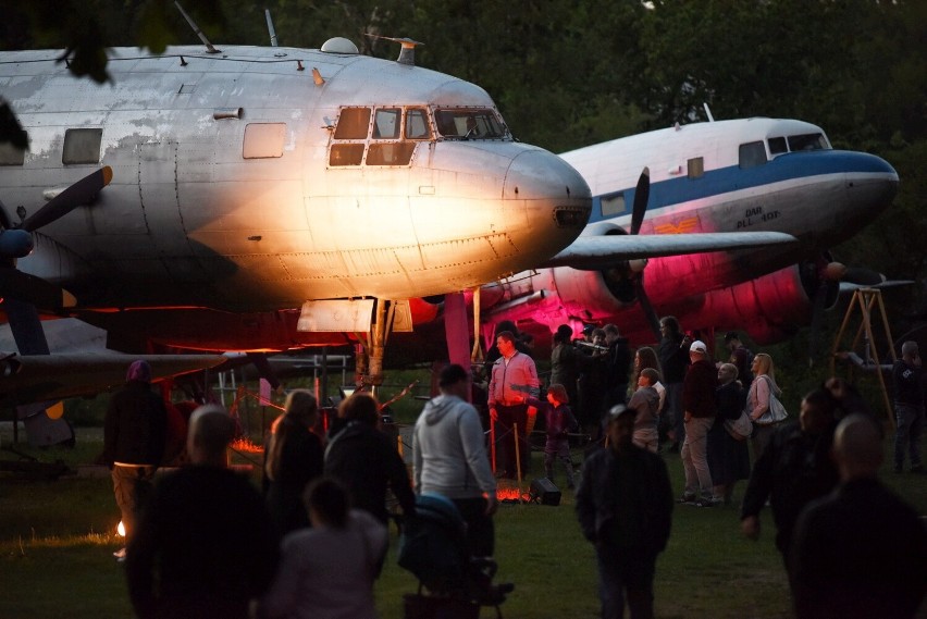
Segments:
[[[821,309],[829,309],[839,292],[838,282],[821,277],[818,264],[803,262],[706,294],[702,310],[687,323],[742,330],[757,344],[771,344],[811,323],[816,295],[825,295]]]

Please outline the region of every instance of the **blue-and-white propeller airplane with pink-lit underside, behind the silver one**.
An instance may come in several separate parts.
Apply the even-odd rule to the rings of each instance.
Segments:
[[[642,345],[659,341],[657,317],[676,315],[687,330],[781,341],[836,302],[850,274],[828,248],[887,209],[899,183],[882,159],[835,150],[820,127],[794,120],[677,125],[561,157],[592,188],[590,224],[551,268],[483,286],[487,338],[504,320],[540,343],[559,324],[579,333],[610,322]],[[650,177],[635,186],[642,166]],[[650,261],[616,261],[607,251],[596,259],[590,249],[615,235],[643,243],[739,231],[779,231],[798,243]]]

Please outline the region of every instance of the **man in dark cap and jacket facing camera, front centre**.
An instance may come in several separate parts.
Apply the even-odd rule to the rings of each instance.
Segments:
[[[634,409],[609,412],[609,446],[586,458],[577,516],[595,544],[603,619],[620,619],[625,595],[632,619],[653,617],[656,558],[666,548],[672,488],[666,465],[632,443]]]

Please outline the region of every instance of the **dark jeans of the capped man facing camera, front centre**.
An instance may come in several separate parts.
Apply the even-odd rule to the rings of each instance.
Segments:
[[[602,619],[625,617],[625,595],[631,619],[652,619],[654,616],[654,572],[656,553],[644,548],[616,548],[596,544],[598,562],[598,596]]]

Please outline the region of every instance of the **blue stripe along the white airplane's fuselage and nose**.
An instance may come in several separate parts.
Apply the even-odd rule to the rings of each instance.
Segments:
[[[738,165],[706,171],[701,178],[670,178],[651,185],[647,210],[659,209],[718,196],[751,187],[762,187],[783,181],[820,176],[825,174],[882,173],[894,174],[894,169],[883,159],[866,152],[850,150],[813,150],[780,154],[772,161],[741,170]],[[625,211],[604,218],[602,198],[625,194]],[[593,196],[590,223],[631,214],[634,187]]]

